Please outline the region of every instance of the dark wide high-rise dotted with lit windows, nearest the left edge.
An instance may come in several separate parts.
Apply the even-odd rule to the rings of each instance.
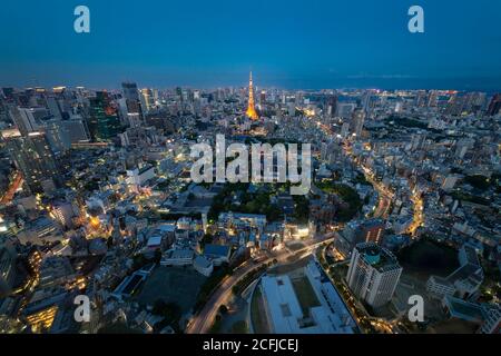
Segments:
[[[55,155],[45,132],[12,135],[6,139],[6,147],[32,192],[41,192],[43,187],[59,180]]]

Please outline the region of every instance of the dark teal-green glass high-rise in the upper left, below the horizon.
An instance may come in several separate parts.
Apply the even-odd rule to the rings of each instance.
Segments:
[[[90,112],[88,128],[95,140],[109,140],[120,132],[120,119],[117,110],[111,106],[106,91],[97,91],[95,98],[90,98]]]

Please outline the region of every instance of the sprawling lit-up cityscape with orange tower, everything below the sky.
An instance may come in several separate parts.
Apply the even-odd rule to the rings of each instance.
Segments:
[[[499,333],[500,93],[253,88],[1,88],[0,333]]]

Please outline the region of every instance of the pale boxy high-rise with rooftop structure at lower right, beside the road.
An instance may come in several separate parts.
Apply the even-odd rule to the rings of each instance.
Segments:
[[[374,243],[355,246],[346,281],[353,294],[372,307],[390,301],[399,284],[402,267],[396,257]]]

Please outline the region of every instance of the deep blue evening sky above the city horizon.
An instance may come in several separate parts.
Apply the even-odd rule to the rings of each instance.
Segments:
[[[73,31],[90,9],[91,32]],[[420,4],[425,33],[407,31]],[[19,0],[0,86],[501,89],[499,0]]]

